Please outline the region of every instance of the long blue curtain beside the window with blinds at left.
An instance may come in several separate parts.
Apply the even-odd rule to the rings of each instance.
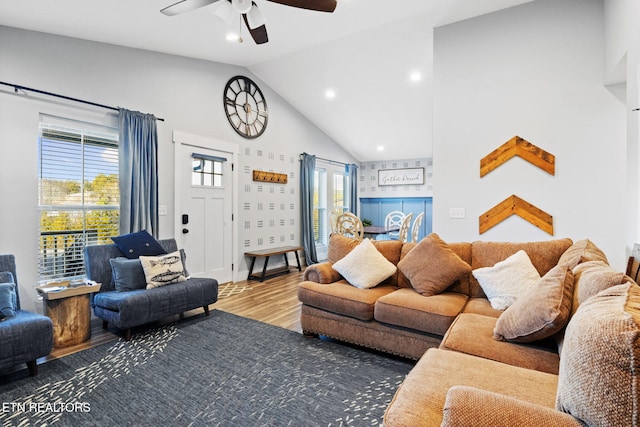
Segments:
[[[158,237],[158,131],[152,114],[120,109],[120,233]]]

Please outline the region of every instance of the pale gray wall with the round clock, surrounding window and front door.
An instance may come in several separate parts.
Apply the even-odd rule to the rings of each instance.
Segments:
[[[267,98],[269,124],[255,140],[238,136],[224,115],[224,85],[236,74],[254,79]],[[164,118],[164,122],[158,122],[159,200],[168,207],[168,215],[160,217],[160,238],[174,233],[173,130],[238,144],[240,227],[234,263],[239,280],[246,277],[244,251],[257,249],[261,243],[270,245],[272,237],[277,242],[283,233],[279,223],[277,229],[256,230],[255,205],[243,209],[245,201],[272,197],[266,186],[259,191],[246,171],[288,173],[286,208],[299,218],[298,154],[306,151],[345,163],[355,161],[241,67],[0,26],[0,81]],[[115,124],[116,120],[114,114],[102,109],[34,94],[14,94],[12,89],[0,86],[0,253],[16,255],[23,307],[32,310],[41,310],[33,290],[38,277],[37,135],[41,112],[96,123]],[[301,242],[299,221],[284,228],[287,244]],[[294,242],[289,243],[291,238]]]

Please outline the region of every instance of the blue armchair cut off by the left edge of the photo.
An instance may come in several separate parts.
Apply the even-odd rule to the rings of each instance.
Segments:
[[[18,276],[13,255],[0,255],[0,272],[10,273],[15,283],[16,315],[0,321],[0,372],[26,363],[29,374],[38,374],[36,359],[53,347],[53,323],[47,316],[20,309]]]

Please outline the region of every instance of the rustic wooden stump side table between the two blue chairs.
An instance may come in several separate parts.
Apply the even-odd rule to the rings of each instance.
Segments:
[[[100,284],[69,287],[69,282],[36,288],[44,301],[44,313],[53,322],[53,346],[68,347],[91,337],[90,295]]]

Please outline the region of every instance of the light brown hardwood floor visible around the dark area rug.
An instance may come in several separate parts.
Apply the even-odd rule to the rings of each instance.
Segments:
[[[221,310],[238,316],[247,317],[281,328],[302,333],[300,327],[300,301],[297,297],[298,284],[302,281],[302,272],[297,270],[260,283],[257,280],[244,280],[236,282],[236,290],[242,290],[234,295],[219,298],[211,304],[211,310]],[[222,295],[221,295],[222,296]],[[203,316],[202,308],[185,313],[185,317]],[[163,320],[163,323],[173,322],[178,316],[172,316]],[[140,331],[149,325],[134,329]],[[39,362],[57,359],[87,348],[95,347],[122,336],[122,333],[114,328],[102,329],[102,320],[94,318],[91,321],[91,338],[81,344],[54,348],[49,356]]]

